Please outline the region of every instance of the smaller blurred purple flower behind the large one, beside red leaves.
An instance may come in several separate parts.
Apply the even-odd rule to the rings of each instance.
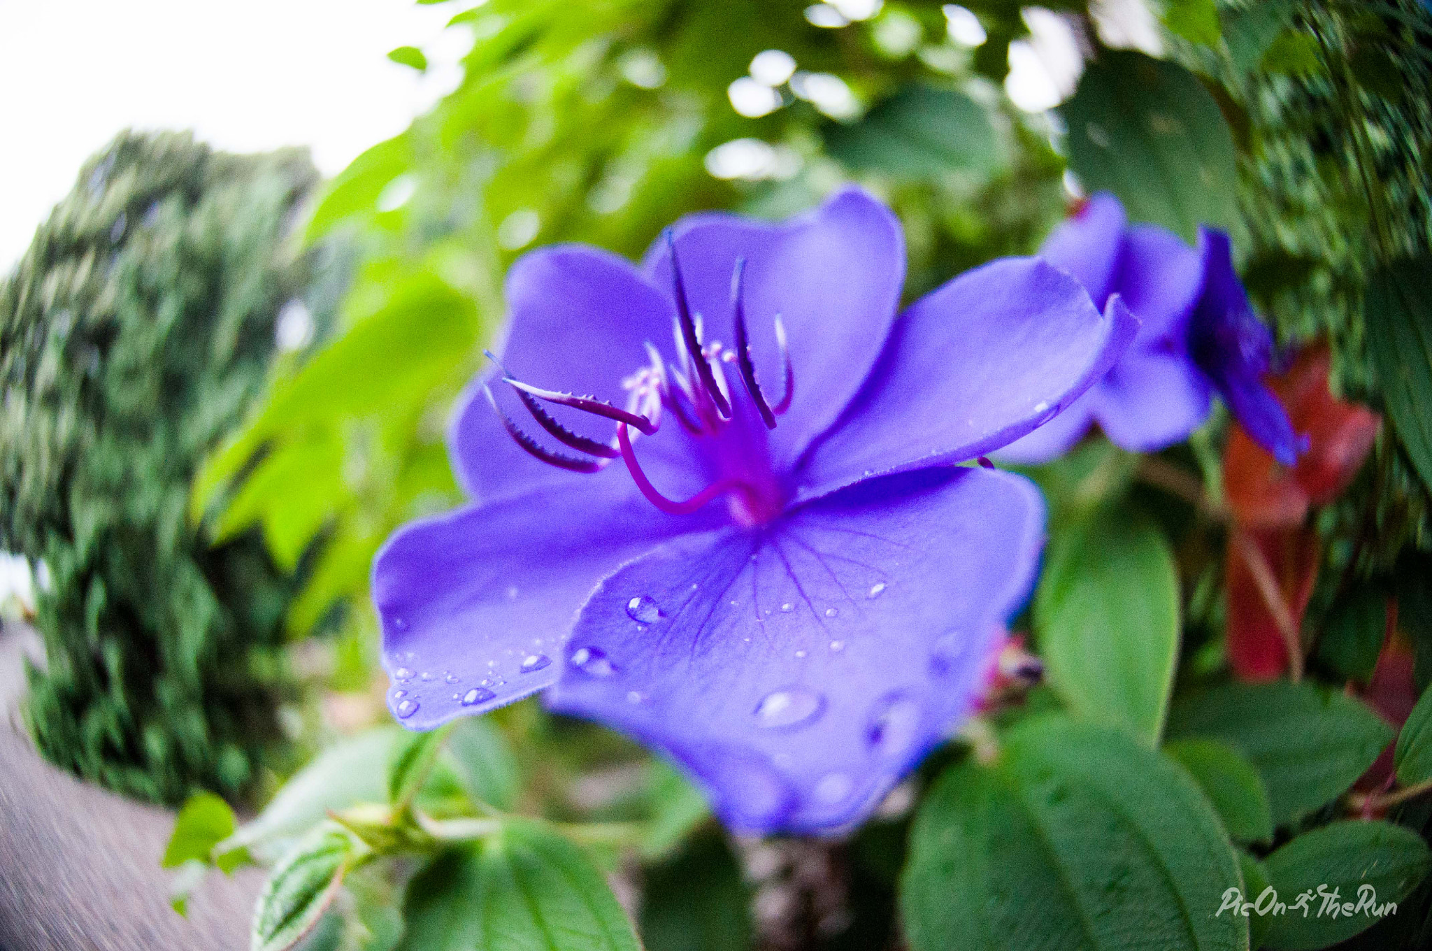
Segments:
[[[1074,275],[1097,305],[1120,295],[1141,327],[1108,375],[1000,458],[1050,461],[1095,423],[1126,450],[1160,450],[1199,428],[1217,390],[1260,444],[1293,461],[1287,414],[1262,382],[1272,337],[1233,271],[1227,235],[1200,228],[1199,248],[1156,225],[1128,225],[1108,193],[1050,235],[1040,255]]]

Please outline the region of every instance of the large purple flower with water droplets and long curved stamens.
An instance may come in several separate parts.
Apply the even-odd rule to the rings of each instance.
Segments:
[[[683,219],[640,269],[514,264],[501,365],[450,433],[478,501],[374,564],[394,715],[553,687],[732,826],[868,812],[969,712],[1035,573],[1038,493],[954,463],[1047,421],[1136,329],[1034,258],[896,317],[904,261],[846,189],[779,225]]]

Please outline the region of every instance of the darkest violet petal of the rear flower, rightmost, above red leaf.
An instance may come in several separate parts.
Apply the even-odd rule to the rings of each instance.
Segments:
[[[1233,269],[1229,236],[1199,229],[1203,289],[1189,324],[1189,352],[1213,381],[1233,417],[1283,465],[1297,460],[1299,438],[1277,397],[1263,384],[1273,335],[1253,314]]]

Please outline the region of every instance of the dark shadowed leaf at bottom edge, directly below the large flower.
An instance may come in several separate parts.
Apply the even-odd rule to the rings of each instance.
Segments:
[[[750,891],[719,835],[702,835],[676,858],[644,869],[646,951],[746,951]]]

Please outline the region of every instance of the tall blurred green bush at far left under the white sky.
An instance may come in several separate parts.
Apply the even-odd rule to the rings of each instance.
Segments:
[[[278,738],[294,581],[253,534],[211,547],[188,497],[314,279],[285,236],[315,183],[301,152],[125,133],[0,285],[0,547],[47,574],[30,725],[133,796],[238,795]]]

